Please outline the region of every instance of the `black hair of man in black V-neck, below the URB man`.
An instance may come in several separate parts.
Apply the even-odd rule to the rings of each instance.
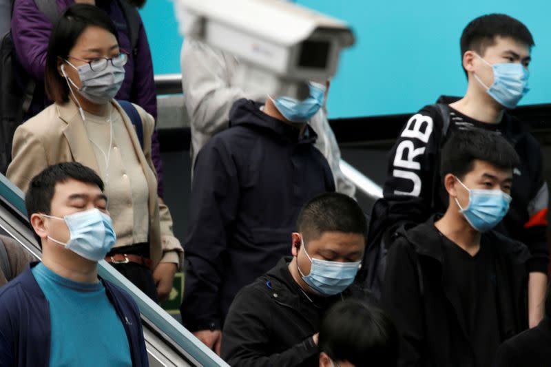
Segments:
[[[460,180],[482,160],[499,169],[514,169],[520,158],[514,147],[497,132],[464,129],[451,134],[441,151],[441,177],[453,174]]]

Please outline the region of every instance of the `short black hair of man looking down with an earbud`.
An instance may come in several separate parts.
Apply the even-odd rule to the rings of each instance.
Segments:
[[[357,202],[342,193],[322,193],[306,203],[298,214],[297,229],[304,242],[324,232],[358,233],[367,238],[367,220]]]

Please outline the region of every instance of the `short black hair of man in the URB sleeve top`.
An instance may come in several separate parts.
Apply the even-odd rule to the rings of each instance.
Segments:
[[[534,38],[526,25],[506,14],[486,14],[470,21],[463,30],[460,41],[461,60],[469,50],[484,56],[486,48],[495,45],[497,36],[510,37],[529,48],[534,46]]]

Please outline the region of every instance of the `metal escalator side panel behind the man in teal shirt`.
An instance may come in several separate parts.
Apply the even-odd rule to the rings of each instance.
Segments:
[[[13,238],[40,259],[42,252],[26,216],[23,193],[0,174],[0,234]],[[228,366],[104,260],[98,263],[98,274],[124,289],[138,304],[151,366]]]

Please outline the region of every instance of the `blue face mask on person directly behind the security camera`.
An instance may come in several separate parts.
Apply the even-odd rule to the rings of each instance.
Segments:
[[[293,123],[306,123],[320,110],[323,104],[325,86],[318,83],[309,83],[310,96],[304,101],[291,97],[271,98],[273,105],[280,114]]]

